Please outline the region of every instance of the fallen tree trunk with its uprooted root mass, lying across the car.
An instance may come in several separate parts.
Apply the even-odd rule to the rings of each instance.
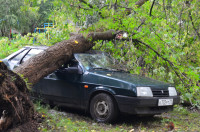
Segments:
[[[111,40],[115,36],[114,30],[89,33],[86,38],[74,35],[30,58],[17,67],[15,73],[0,62],[0,131],[33,118],[33,104],[28,96],[26,83],[19,75],[35,84],[69,61],[73,53],[85,52],[94,46],[94,41]]]

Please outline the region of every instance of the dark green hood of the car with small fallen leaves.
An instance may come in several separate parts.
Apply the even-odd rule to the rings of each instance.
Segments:
[[[152,88],[167,88],[171,86],[168,83],[157,81],[151,78],[142,77],[136,74],[130,74],[127,72],[120,71],[105,71],[105,70],[93,70],[90,71],[93,74],[103,75],[110,79],[117,79],[118,81],[131,83],[135,87],[138,86],[149,86]]]

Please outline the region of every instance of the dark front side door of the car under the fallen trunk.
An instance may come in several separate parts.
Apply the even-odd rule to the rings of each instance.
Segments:
[[[44,77],[36,84],[35,90],[55,104],[79,107],[83,95],[80,87],[82,69],[78,63],[75,65],[73,63],[71,61]],[[73,71],[73,68],[76,70]]]

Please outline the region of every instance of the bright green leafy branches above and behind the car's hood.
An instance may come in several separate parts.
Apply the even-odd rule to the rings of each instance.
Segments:
[[[55,1],[55,7],[62,7],[56,10],[60,15],[55,20],[63,23],[70,18],[74,23],[82,23],[82,32],[108,29],[128,32],[130,38],[144,42],[154,51],[132,40],[97,42],[94,49],[110,52],[128,65],[131,73],[175,84],[184,101],[199,107],[199,1],[156,1],[152,16],[149,15],[152,1],[139,8],[136,1]],[[129,15],[127,8],[131,8]]]

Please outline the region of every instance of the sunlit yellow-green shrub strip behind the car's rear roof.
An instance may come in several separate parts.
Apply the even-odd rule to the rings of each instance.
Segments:
[[[49,29],[46,33],[28,33],[25,36],[17,35],[13,40],[2,37],[0,38],[0,59],[7,57],[24,46],[51,46],[62,40],[67,40],[69,39],[69,32],[71,32],[70,27],[69,29],[63,28],[63,30],[57,28]]]

